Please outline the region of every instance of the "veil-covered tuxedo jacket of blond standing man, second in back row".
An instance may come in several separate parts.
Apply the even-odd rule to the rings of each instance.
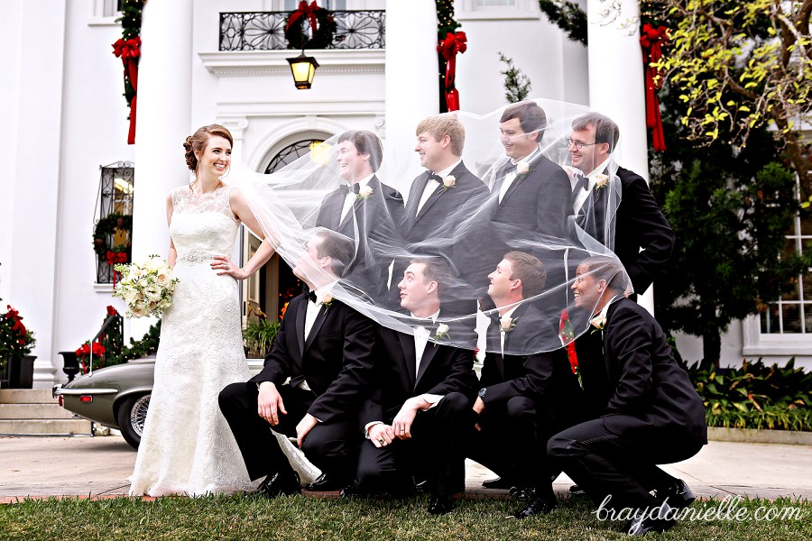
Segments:
[[[484,286],[487,284],[488,272],[493,269],[482,273],[485,270],[484,258],[478,255],[481,245],[476,241],[474,220],[488,198],[488,188],[474,173],[467,170],[462,161],[449,174],[457,179],[457,185],[443,189],[440,184],[419,214],[417,207],[429,182],[429,173],[424,171],[414,179],[409,190],[401,231],[412,254],[445,255],[453,262],[465,285]],[[475,249],[477,246],[478,250]],[[406,261],[402,263],[408,264]],[[402,263],[398,280],[406,266]],[[470,298],[477,297],[478,294],[472,291]]]

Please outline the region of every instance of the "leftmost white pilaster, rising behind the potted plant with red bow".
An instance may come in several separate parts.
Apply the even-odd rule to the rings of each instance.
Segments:
[[[21,32],[12,31],[18,42],[19,64],[10,64],[9,84],[18,85],[18,99],[5,106],[16,109],[9,133],[12,141],[10,170],[14,173],[10,237],[4,248],[11,257],[2,261],[4,284],[2,311],[5,304],[20,311],[25,326],[35,334],[37,344],[32,354],[34,387],[48,388],[56,373],[56,347],[52,336],[58,293],[55,288],[59,252],[62,79],[64,74],[66,3],[25,2],[9,5],[8,15],[19,24]],[[42,46],[48,36],[50,47]],[[14,54],[14,49],[11,50]],[[14,76],[17,75],[18,78]],[[7,267],[6,267],[7,266]]]

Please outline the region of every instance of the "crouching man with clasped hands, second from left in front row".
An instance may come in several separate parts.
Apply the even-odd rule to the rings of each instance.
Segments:
[[[414,335],[378,327],[377,389],[361,413],[367,439],[357,477],[359,490],[368,493],[413,491],[415,477],[427,481],[434,515],[452,510],[455,484],[463,481],[456,475],[464,479],[461,445],[476,390],[474,352],[444,344],[459,339],[457,327],[441,323],[448,280],[438,258],[411,261],[398,288]]]

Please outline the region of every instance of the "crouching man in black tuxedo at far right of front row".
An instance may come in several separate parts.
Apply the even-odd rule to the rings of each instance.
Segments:
[[[579,355],[578,363],[585,393],[604,406],[592,420],[551,437],[548,454],[596,506],[648,511],[629,525],[630,534],[645,535],[672,527],[671,509],[694,500],[684,481],[656,464],[697,454],[707,443],[707,426],[702,399],[660,325],[624,297],[625,280],[613,258],[578,265],[576,304],[592,314],[603,341],[601,355]]]

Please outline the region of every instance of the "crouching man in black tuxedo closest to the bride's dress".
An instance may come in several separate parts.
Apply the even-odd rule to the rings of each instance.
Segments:
[[[300,492],[299,475],[271,427],[297,436],[322,470],[311,490],[344,488],[352,476],[360,397],[370,386],[375,325],[332,298],[330,289],[353,257],[346,237],[320,230],[293,269],[310,293],[293,298],[263,371],[220,392],[219,404],[258,493],[272,498]],[[289,383],[285,383],[288,378]]]

